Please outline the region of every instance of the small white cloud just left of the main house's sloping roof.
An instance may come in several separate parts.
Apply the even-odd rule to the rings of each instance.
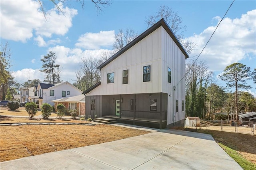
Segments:
[[[115,42],[115,31],[100,31],[99,33],[87,32],[79,37],[76,47],[84,49],[100,49],[100,47],[111,47]]]

